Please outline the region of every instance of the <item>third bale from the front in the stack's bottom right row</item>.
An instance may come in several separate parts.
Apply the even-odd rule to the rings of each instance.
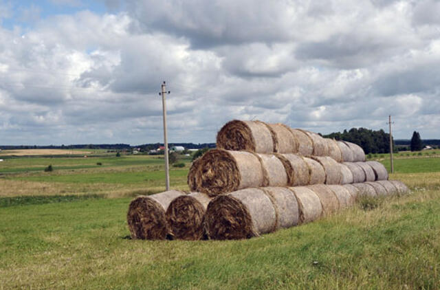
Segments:
[[[313,190],[305,186],[295,186],[289,189],[294,192],[298,201],[299,223],[309,223],[320,218],[322,205],[318,195]]]

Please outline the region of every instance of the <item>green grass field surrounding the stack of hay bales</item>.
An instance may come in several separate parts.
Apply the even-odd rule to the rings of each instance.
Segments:
[[[25,170],[19,159],[0,167],[0,289],[440,288],[440,158],[395,161],[392,178],[412,193],[374,210],[199,242],[129,239],[131,197],[161,190],[163,160],[98,158],[56,160],[53,172]],[[185,162],[172,171],[173,188],[186,186]],[[14,184],[27,191],[12,193]]]

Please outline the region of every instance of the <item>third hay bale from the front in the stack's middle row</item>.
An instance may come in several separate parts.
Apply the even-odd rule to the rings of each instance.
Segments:
[[[302,157],[295,154],[281,154],[278,157],[284,164],[289,186],[309,184],[309,168]]]

